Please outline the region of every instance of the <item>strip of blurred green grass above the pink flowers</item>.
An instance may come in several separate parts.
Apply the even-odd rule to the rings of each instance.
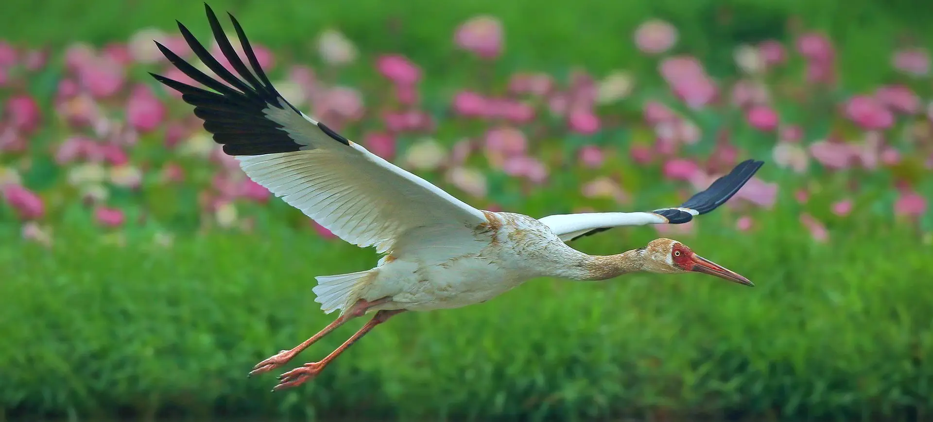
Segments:
[[[661,17],[680,31],[679,51],[710,63],[714,75],[734,71],[731,48],[764,38],[791,39],[789,19],[801,29],[825,31],[840,48],[844,81],[871,88],[890,76],[891,48],[905,39],[933,45],[925,16],[933,6],[909,0],[315,0],[267,2],[214,0],[229,10],[254,42],[311,59],[313,38],[337,27],[364,53],[397,51],[410,55],[428,74],[451,74],[464,67],[465,55],[453,47],[453,29],[478,13],[503,20],[507,59],[500,70],[521,68],[564,71],[581,65],[597,73],[626,68],[644,74],[655,66],[635,50],[632,34],[643,20]],[[22,19],[41,16],[41,19]],[[208,34],[201,2],[8,0],[0,14],[0,38],[31,45],[63,46],[126,40],[140,28],[175,32],[181,20],[195,34]],[[856,72],[857,70],[857,72]]]

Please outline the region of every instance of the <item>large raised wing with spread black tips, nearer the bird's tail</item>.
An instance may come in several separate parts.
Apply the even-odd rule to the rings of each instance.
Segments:
[[[239,77],[216,61],[181,22],[178,28],[188,46],[223,82],[159,43],[175,67],[214,91],[153,77],[195,106],[204,129],[223,144],[224,153],[239,160],[253,181],[343,240],[360,247],[375,245],[378,252],[392,250],[397,239],[411,231],[461,235],[487,221],[481,211],[299,112],[272,87],[239,22],[230,15],[255,75],[206,8],[216,42]]]

